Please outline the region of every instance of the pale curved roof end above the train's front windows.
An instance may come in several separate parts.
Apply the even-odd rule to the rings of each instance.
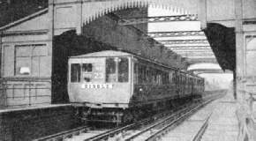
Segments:
[[[71,56],[70,58],[87,58],[87,57],[101,57],[101,56],[133,56],[133,55],[123,51],[104,50],[104,51],[89,53],[86,55]]]

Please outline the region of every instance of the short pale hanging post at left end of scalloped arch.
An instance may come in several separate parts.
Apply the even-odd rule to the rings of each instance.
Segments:
[[[78,35],[82,33],[82,26],[83,26],[82,7],[83,7],[83,0],[77,0],[77,4],[76,4],[76,31],[77,31]]]

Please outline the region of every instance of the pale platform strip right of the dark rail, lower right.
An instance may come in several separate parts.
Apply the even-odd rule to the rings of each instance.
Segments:
[[[236,115],[237,103],[228,92],[222,99],[216,101],[213,115],[211,115],[207,130],[202,141],[236,141],[239,127]]]

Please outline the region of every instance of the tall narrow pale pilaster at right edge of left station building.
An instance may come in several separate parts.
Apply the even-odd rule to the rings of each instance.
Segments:
[[[48,57],[49,57],[49,75],[50,78],[52,77],[52,69],[53,69],[53,40],[54,40],[54,4],[55,0],[49,0],[49,7],[48,7],[48,20],[49,20],[49,32],[48,32]],[[52,81],[52,80],[51,80]],[[52,93],[51,93],[52,94]],[[52,95],[51,95],[52,100]]]

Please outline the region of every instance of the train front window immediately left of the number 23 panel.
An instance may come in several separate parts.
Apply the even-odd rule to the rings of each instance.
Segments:
[[[93,79],[93,64],[92,63],[83,63],[82,64],[82,78],[83,82],[91,82]]]

